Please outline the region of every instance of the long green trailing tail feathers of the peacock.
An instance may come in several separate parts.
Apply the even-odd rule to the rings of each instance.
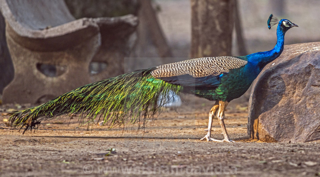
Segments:
[[[154,69],[84,85],[34,108],[9,113],[9,120],[14,127],[26,126],[24,132],[36,128],[41,121],[78,114],[82,125],[90,125],[99,116],[110,128],[125,124],[128,118],[142,128],[156,118],[167,100],[175,99],[171,91],[179,95],[182,89],[152,77],[150,72]]]

